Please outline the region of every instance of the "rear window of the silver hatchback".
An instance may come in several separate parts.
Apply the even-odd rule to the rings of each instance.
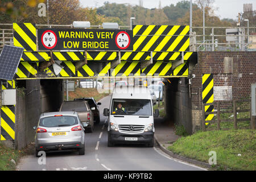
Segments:
[[[43,127],[63,127],[77,124],[77,117],[71,115],[45,117],[41,118],[39,122],[39,126]]]

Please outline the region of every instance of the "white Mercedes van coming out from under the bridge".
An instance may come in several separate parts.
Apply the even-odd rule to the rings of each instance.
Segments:
[[[154,147],[154,117],[150,90],[145,86],[122,86],[113,90],[108,116],[108,146],[115,143],[140,143]]]

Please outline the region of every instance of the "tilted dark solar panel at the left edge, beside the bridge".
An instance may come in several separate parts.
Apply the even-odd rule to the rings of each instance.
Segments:
[[[0,55],[0,79],[13,80],[23,53],[23,47],[5,45]]]

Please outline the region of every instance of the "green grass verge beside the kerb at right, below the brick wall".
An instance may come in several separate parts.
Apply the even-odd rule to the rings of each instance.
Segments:
[[[190,159],[208,163],[216,151],[214,170],[251,170],[256,167],[256,131],[228,130],[197,132],[178,139],[168,150]],[[241,156],[238,156],[241,154]]]

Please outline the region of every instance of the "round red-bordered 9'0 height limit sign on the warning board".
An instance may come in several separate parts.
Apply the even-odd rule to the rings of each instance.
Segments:
[[[55,32],[46,30],[42,34],[41,41],[45,48],[52,49],[57,44],[57,36]]]

